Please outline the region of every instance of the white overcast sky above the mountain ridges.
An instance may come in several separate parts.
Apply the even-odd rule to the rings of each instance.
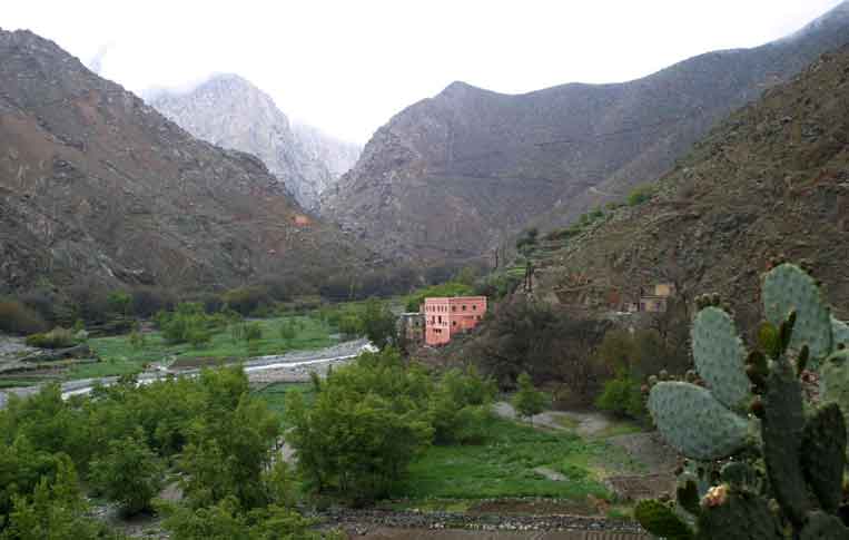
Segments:
[[[365,143],[453,80],[517,94],[613,82],[780,38],[840,0],[1,0],[136,92],[235,72],[290,117]]]

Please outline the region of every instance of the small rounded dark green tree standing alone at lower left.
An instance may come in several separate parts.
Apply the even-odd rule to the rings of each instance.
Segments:
[[[165,469],[145,443],[140,428],[134,436],[109,442],[107,452],[91,462],[90,470],[92,484],[128,516],[150,509],[150,501],[162,489]]]

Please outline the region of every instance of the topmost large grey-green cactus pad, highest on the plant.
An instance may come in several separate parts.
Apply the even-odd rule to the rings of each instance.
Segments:
[[[831,314],[817,283],[804,271],[792,264],[777,266],[763,279],[762,297],[767,318],[776,326],[797,312],[791,348],[807,344],[813,360],[831,352]]]

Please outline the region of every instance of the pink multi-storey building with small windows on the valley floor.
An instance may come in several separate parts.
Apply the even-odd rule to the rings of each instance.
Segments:
[[[451,336],[474,328],[486,313],[486,296],[425,298],[425,343],[444,345]]]

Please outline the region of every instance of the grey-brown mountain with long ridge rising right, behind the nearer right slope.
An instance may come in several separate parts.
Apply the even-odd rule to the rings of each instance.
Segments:
[[[796,35],[645,78],[510,96],[453,82],[404,109],[323,198],[388,254],[470,258],[552,228],[667,171],[733,109],[849,42],[849,2]]]

